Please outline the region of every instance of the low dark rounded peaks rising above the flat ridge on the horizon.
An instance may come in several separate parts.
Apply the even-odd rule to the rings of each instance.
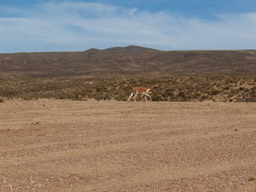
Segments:
[[[136,45],[129,45],[127,47],[110,47],[108,49],[91,48],[86,51],[90,52],[90,51],[159,51],[159,50],[151,49],[151,48],[147,48],[147,47],[140,47],[140,46],[136,46]]]

